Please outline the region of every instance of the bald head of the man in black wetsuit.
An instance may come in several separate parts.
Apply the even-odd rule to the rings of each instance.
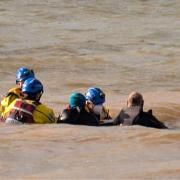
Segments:
[[[131,107],[131,106],[143,107],[143,105],[144,105],[144,100],[143,100],[143,96],[140,93],[132,92],[129,94],[128,100],[127,100],[128,107]]]

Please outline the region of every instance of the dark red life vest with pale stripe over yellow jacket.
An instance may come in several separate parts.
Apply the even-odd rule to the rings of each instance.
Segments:
[[[10,111],[5,115],[5,122],[34,123],[33,111],[35,108],[36,104],[32,101],[17,99]]]

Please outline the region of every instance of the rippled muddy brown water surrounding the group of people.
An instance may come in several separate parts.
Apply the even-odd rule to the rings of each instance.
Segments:
[[[22,126],[22,134],[37,133],[31,141],[33,133],[25,133],[23,139],[18,128],[2,126],[0,175],[7,177],[10,168],[9,178],[80,178],[83,171],[82,178],[178,179],[179,18],[178,0],[0,0],[1,94],[14,84],[17,67],[25,65],[43,82],[42,101],[56,114],[73,90],[84,92],[89,86],[100,86],[114,115],[125,105],[127,94],[138,90],[144,93],[145,108],[153,108],[172,128]],[[45,139],[41,139],[41,132],[47,132]],[[55,137],[51,139],[48,133]],[[84,135],[92,142],[82,143]],[[47,145],[39,149],[37,144],[44,142]],[[62,148],[63,160],[56,159],[58,151],[50,145]],[[39,154],[43,149],[48,159]],[[79,162],[79,158],[83,160]],[[27,168],[15,168],[16,163],[22,167],[28,161]],[[87,166],[82,167],[83,163]]]

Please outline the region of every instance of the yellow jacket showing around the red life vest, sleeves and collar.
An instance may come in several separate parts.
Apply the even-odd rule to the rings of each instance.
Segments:
[[[1,119],[4,121],[9,116],[9,112],[11,112],[14,109],[14,105],[18,101],[18,99],[15,99],[4,111],[3,115],[1,116]],[[36,104],[34,101],[31,100],[25,100],[28,104]],[[34,111],[33,111],[33,120],[34,123],[39,124],[45,124],[45,123],[54,123],[55,122],[55,115],[54,111],[47,107],[44,104],[38,104],[36,105]]]

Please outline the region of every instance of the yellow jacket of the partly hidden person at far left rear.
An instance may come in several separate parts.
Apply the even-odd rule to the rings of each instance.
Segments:
[[[11,88],[7,95],[2,99],[1,101],[1,105],[0,105],[0,113],[1,115],[3,115],[4,111],[6,110],[6,108],[17,98],[22,98],[22,92],[21,92],[21,88],[15,86],[13,88]]]

